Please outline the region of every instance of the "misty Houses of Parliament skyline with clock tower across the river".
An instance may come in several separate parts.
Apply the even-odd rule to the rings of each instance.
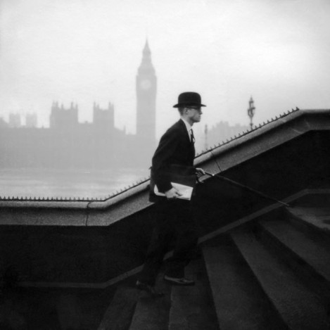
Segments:
[[[15,114],[10,115],[8,123],[0,120],[0,167],[146,168],[156,148],[156,92],[157,77],[146,42],[136,77],[136,134],[115,127],[111,103],[106,109],[94,103],[93,121],[80,123],[77,104],[64,108],[53,102],[49,128],[37,128],[36,115],[28,115],[25,126],[20,125],[20,116]],[[220,123],[209,131],[209,142],[219,143],[243,129],[246,127]],[[227,134],[219,136],[216,131]]]

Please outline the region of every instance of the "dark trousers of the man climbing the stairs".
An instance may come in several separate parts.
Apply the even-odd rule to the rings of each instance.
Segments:
[[[196,222],[191,212],[191,202],[164,198],[155,205],[156,226],[139,277],[140,281],[153,286],[170,243],[174,240],[172,257],[167,260],[165,274],[184,277],[184,267],[197,246]]]

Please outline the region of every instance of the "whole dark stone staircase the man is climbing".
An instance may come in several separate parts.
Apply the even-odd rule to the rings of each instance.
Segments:
[[[160,299],[119,286],[98,329],[330,329],[329,217],[330,208],[280,209],[217,236],[187,267],[196,286],[160,274]]]

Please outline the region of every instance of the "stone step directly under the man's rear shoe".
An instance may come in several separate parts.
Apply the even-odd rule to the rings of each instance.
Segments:
[[[148,293],[141,291],[129,330],[167,329],[171,286],[165,284],[163,277],[163,272],[160,272],[156,281],[156,288],[165,295],[161,298],[151,298]]]

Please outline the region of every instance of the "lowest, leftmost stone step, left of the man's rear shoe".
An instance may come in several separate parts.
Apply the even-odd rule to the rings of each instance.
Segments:
[[[139,298],[136,288],[120,286],[103,315],[98,330],[127,330]]]

